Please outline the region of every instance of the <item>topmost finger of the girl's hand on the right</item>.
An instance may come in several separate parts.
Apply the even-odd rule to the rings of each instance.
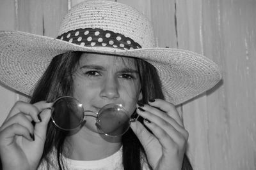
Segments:
[[[174,120],[176,120],[179,125],[184,127],[183,122],[180,118],[179,112],[177,111],[177,109],[175,108],[175,106],[172,103],[168,103],[167,101],[164,101],[162,99],[154,99],[151,102],[149,101],[148,104],[150,106],[154,106],[154,107],[159,108],[160,110],[166,112],[170,117],[172,117]]]

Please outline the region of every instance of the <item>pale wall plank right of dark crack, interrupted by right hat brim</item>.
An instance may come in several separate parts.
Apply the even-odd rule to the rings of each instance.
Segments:
[[[175,1],[177,17],[177,46],[203,53],[202,1]],[[205,94],[183,104],[183,120],[189,132],[188,157],[194,169],[210,169],[207,98]]]

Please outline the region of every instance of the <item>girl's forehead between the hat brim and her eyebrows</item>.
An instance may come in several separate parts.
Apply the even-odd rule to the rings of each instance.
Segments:
[[[130,57],[120,57],[100,53],[83,53],[79,60],[81,65],[97,65],[103,67],[129,67],[135,69],[135,60]]]

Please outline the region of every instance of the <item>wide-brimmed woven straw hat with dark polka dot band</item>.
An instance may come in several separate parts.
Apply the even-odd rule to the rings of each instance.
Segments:
[[[52,57],[82,51],[138,57],[158,70],[165,99],[180,104],[220,81],[212,60],[188,50],[156,48],[152,24],[139,11],[113,1],[86,1],[68,11],[57,38],[0,32],[0,80],[31,96]]]

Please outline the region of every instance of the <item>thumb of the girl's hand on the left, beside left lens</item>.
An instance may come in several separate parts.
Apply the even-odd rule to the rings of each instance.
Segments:
[[[42,119],[42,122],[39,122],[35,125],[35,139],[36,137],[42,139],[42,141],[45,141],[46,131],[47,131],[47,125],[49,123],[49,120],[51,119],[51,108],[46,108],[40,113],[40,117]]]

